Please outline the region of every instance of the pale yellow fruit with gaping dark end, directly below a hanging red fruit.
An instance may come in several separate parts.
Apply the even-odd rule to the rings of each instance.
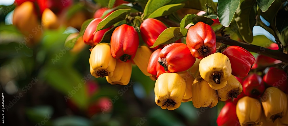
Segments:
[[[231,64],[227,56],[214,53],[200,61],[199,72],[212,89],[218,90],[226,86],[231,76]]]

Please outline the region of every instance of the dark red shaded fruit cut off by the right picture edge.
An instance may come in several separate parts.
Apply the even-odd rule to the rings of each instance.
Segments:
[[[268,72],[264,75],[263,81],[269,86],[274,86],[281,91],[285,91],[288,84],[286,76],[287,73],[284,70],[270,67]]]

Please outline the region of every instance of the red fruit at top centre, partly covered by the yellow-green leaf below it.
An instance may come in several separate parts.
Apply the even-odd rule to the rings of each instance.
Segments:
[[[159,35],[167,29],[167,26],[164,25],[160,20],[154,18],[145,19],[140,25],[140,33],[143,41],[148,47],[153,46]],[[175,43],[181,42],[177,40]],[[158,49],[159,46],[151,48],[152,50]]]

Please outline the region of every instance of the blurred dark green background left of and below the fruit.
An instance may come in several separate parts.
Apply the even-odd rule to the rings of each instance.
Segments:
[[[66,18],[81,5],[73,2]],[[5,94],[5,124],[217,125],[217,108],[223,102],[214,108],[194,108],[192,102],[187,102],[173,111],[162,110],[155,104],[155,81],[136,65],[128,86],[111,85],[106,78],[91,76],[90,47],[85,45],[77,51],[64,48],[67,37],[79,32],[79,28],[61,25],[43,30],[39,44],[28,48],[21,44],[25,37],[11,22],[15,5],[0,7],[0,82]],[[88,15],[93,13],[85,6],[79,8]]]

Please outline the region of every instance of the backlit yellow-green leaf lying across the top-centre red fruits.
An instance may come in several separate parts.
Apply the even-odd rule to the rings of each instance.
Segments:
[[[159,37],[157,38],[153,46],[151,46],[150,48],[154,48],[156,46],[167,44],[167,43],[169,44],[175,43],[175,41],[184,37],[187,34],[187,31],[188,30],[186,29],[186,33],[184,30],[180,32],[180,27],[170,27],[168,29],[165,29],[159,35]]]

